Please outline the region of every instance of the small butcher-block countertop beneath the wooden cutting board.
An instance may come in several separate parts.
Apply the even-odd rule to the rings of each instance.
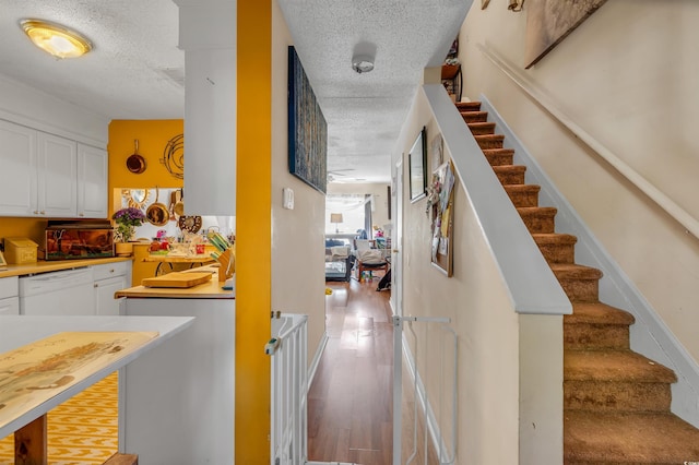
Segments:
[[[198,286],[188,288],[177,287],[145,287],[135,286],[128,289],[117,290],[115,298],[164,298],[164,299],[235,299],[235,290],[223,289],[223,283],[218,282],[218,266],[208,265],[183,271],[209,272],[212,274],[211,281]],[[235,279],[235,277],[234,277]],[[235,281],[234,281],[235,283]],[[235,285],[234,285],[235,289]]]

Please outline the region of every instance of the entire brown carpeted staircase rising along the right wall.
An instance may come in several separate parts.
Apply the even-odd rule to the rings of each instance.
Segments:
[[[479,102],[457,104],[570,299],[564,317],[564,463],[699,464],[699,430],[670,412],[675,373],[630,350],[633,317],[599,300],[600,270],[576,264],[577,238],[557,234],[556,208],[495,133]]]

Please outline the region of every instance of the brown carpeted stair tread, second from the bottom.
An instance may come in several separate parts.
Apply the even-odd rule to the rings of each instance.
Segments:
[[[631,350],[565,350],[564,380],[674,383],[677,377]]]

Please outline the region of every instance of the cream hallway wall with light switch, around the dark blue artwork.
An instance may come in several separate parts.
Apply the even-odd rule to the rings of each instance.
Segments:
[[[293,40],[276,1],[272,4],[272,310],[308,314],[308,355],[325,331],[325,198],[288,172],[287,47]],[[294,210],[282,189],[294,190]]]

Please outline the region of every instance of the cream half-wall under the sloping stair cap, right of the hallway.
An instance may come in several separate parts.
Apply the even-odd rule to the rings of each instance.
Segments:
[[[427,140],[431,141],[437,133],[436,123],[424,94],[418,91],[396,144],[393,164],[410,151],[423,126],[427,127]],[[407,179],[407,172],[404,176]],[[541,405],[524,405],[522,408],[520,397],[542,392],[561,396],[560,380],[552,383],[550,377],[535,378],[528,373],[533,366],[541,369],[543,355],[547,362],[554,360],[561,365],[560,317],[518,315],[514,312],[470,200],[460,186],[455,188],[454,200],[453,276],[447,277],[434,267],[430,264],[426,200],[410,203],[405,200],[408,198],[407,187],[404,190],[404,240],[402,247],[398,246],[404,276],[403,314],[450,318],[459,337],[457,463],[559,462],[562,456],[561,409],[550,412],[542,409]],[[425,344],[423,326],[416,323],[413,327]],[[542,327],[550,331],[540,333]],[[557,334],[557,341],[552,344],[546,336],[548,334]],[[538,346],[529,344],[532,341],[542,343],[543,339],[545,344]],[[439,351],[439,346],[440,342],[434,337],[427,345],[417,347],[411,344],[411,350],[418,353],[418,370],[431,393],[429,397],[434,407],[439,405],[438,393],[446,388],[438,383],[443,375],[431,371],[446,356]],[[429,353],[427,358],[424,357],[425,350]],[[529,428],[531,422],[524,425],[522,418],[536,421],[537,428],[540,421],[541,425],[547,421],[550,425],[553,420],[553,427],[546,426],[546,433],[550,437],[553,431],[558,441],[549,440],[544,446],[540,442],[538,448],[520,452],[520,433],[525,434],[529,443],[535,442],[532,438],[540,434],[535,428]],[[442,417],[438,421],[439,428],[448,433],[448,419]],[[530,462],[520,462],[521,456],[526,456]]]

